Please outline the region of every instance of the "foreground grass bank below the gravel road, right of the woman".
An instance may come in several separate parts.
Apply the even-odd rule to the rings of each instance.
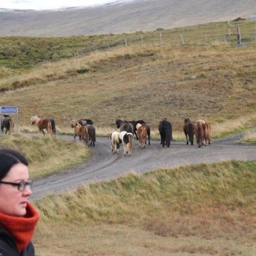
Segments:
[[[35,202],[37,253],[253,256],[255,170],[255,161],[191,165],[47,196]]]

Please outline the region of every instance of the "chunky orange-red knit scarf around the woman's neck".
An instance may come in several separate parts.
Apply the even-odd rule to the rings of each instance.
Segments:
[[[27,203],[27,213],[22,217],[13,217],[0,212],[0,226],[8,231],[15,239],[19,252],[31,241],[39,214],[30,203]]]

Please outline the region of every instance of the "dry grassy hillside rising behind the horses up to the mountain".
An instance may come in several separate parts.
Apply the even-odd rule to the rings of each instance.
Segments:
[[[241,30],[243,26],[243,30],[254,29],[253,22],[237,24]],[[1,69],[0,105],[19,107],[20,127],[31,127],[31,114],[39,114],[54,118],[59,132],[70,127],[71,119],[82,117],[93,119],[99,127],[114,127],[119,117],[142,118],[156,129],[159,119],[166,116],[174,130],[182,127],[184,117],[194,121],[203,118],[212,124],[245,118],[242,126],[250,128],[255,123],[256,104],[253,37],[243,47],[236,46],[234,35],[230,36],[230,43],[212,39],[207,44],[196,44],[191,39],[191,43],[180,44],[180,34],[195,39],[199,38],[198,31],[217,35],[224,26],[227,28],[227,24],[212,23],[162,31],[162,36],[166,33],[178,38],[173,45],[165,37],[160,44],[159,31],[143,34],[142,44],[141,34],[129,35],[129,42],[133,43],[127,47],[121,42],[114,45],[117,35],[84,37],[83,50],[87,54],[79,58],[67,57],[71,57],[70,52],[77,54],[82,44],[80,37],[41,41],[34,38],[34,50],[29,54],[36,59],[37,49],[42,56],[32,66],[28,65],[29,57],[21,61],[23,55],[19,54],[5,60],[10,66]],[[3,39],[13,40],[10,48],[20,45],[21,49],[22,44],[29,47],[27,38]],[[50,41],[60,50],[51,50]],[[109,42],[110,49],[101,51],[100,41]],[[58,47],[54,42],[59,42]],[[43,54],[46,49],[49,53]],[[59,61],[50,60],[54,54]],[[40,64],[39,60],[45,63]]]

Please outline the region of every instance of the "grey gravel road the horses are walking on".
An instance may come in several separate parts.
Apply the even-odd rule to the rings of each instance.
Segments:
[[[73,137],[67,136],[65,139],[72,140]],[[170,148],[163,148],[159,141],[151,141],[150,146],[147,145],[145,149],[140,149],[138,141],[134,141],[132,156],[126,157],[123,156],[122,145],[120,154],[113,155],[109,140],[97,138],[95,147],[89,146],[93,153],[89,162],[61,172],[61,174],[36,180],[30,199],[34,200],[47,194],[65,192],[85,183],[109,180],[131,171],[145,173],[161,167],[171,168],[231,159],[243,161],[256,159],[255,146],[237,145],[234,139],[237,139],[237,136],[215,141],[210,146],[202,148],[198,148],[197,145],[186,145],[186,142],[172,142]]]

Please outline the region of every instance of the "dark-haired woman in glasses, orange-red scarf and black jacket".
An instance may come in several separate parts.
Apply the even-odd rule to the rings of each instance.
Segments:
[[[27,159],[0,149],[0,256],[35,255],[31,239],[39,214],[29,202],[32,181]]]

